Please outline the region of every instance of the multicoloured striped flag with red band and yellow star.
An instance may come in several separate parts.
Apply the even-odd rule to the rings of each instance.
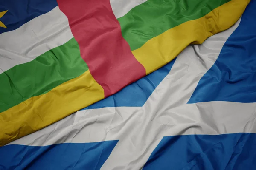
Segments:
[[[230,28],[250,0],[8,0],[0,145],[40,130]]]

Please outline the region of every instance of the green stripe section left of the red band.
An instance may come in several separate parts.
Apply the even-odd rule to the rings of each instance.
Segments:
[[[87,70],[74,38],[31,62],[16,65],[0,74],[0,112],[32,96],[45,94]]]

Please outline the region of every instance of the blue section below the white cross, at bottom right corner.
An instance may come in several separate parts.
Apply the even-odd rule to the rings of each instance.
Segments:
[[[163,137],[143,170],[254,170],[256,134]]]

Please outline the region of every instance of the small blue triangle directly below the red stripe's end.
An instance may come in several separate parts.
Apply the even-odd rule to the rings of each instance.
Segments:
[[[176,58],[169,62],[162,68],[154,71],[151,74],[139,79],[137,82],[126,86],[118,93],[109,96],[99,102],[90,105],[84,109],[96,109],[105,107],[141,107],[147,101],[148,97],[153,93],[154,89],[160,82],[166,77],[170,72],[172,65],[174,64]],[[82,109],[82,110],[84,110]]]

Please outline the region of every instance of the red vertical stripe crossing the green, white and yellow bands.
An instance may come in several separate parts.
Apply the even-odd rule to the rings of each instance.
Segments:
[[[105,97],[145,76],[131,53],[109,0],[57,0],[79,44],[81,57]]]

